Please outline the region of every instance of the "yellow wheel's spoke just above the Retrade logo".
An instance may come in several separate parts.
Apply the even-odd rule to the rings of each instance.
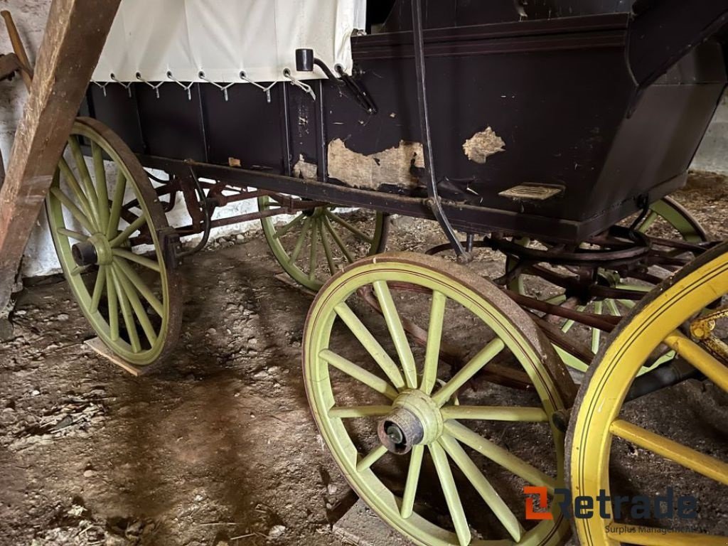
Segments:
[[[612,422],[609,432],[635,446],[652,451],[654,454],[728,486],[728,464],[715,457],[702,454],[700,451],[695,451],[695,449],[683,446],[681,443],[622,419]]]

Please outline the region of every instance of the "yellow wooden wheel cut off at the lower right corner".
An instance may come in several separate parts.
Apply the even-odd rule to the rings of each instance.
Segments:
[[[689,492],[703,490],[704,486],[697,486],[697,480],[705,480],[709,486],[728,492],[722,488],[728,486],[728,446],[711,448],[711,454],[705,452],[708,450],[704,446],[702,451],[689,447],[687,443],[700,442],[695,439],[694,431],[681,431],[678,435],[668,426],[661,427],[660,432],[649,430],[654,425],[636,424],[642,417],[633,411],[630,403],[625,403],[641,366],[660,345],[670,347],[697,368],[719,392],[728,392],[728,347],[719,339],[725,335],[721,329],[722,323],[728,323],[728,308],[705,310],[727,293],[728,244],[723,244],[653,290],[612,333],[609,346],[591,365],[572,412],[567,472],[574,497],[596,499],[601,491],[612,497],[615,488],[610,486],[624,473],[614,464],[620,446],[648,454],[649,464],[659,463],[669,472],[665,487],[683,472],[692,471],[695,474],[685,482],[693,490]],[[687,411],[684,406],[675,409]],[[664,424],[668,416],[661,414],[658,421]],[[687,441],[688,437],[692,441]],[[671,524],[673,528],[684,526],[677,521]],[[696,534],[692,530],[658,531],[654,529],[654,521],[650,523],[652,527],[637,524],[627,515],[615,518],[614,510],[601,513],[596,508],[593,517],[574,519],[579,541],[584,546],[728,544],[728,537]]]

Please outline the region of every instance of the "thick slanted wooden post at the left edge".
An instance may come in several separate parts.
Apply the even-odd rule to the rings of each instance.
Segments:
[[[121,0],[53,0],[0,189],[0,311]]]

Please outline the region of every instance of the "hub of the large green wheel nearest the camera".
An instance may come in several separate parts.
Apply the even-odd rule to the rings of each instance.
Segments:
[[[392,413],[377,426],[382,445],[396,455],[407,454],[414,446],[432,443],[442,432],[440,408],[419,390],[407,390],[399,395]]]

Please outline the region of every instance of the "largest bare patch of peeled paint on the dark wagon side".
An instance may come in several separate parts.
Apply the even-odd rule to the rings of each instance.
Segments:
[[[419,181],[410,172],[413,166],[424,169],[419,142],[400,141],[393,148],[371,155],[349,150],[340,138],[328,145],[329,176],[355,188],[379,189],[383,184],[414,188]]]

